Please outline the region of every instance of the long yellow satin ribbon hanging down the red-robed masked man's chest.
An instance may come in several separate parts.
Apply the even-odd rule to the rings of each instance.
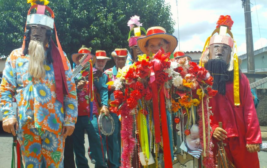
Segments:
[[[237,46],[234,41],[234,105],[240,105],[239,99],[239,68],[238,68],[238,57],[237,57]]]

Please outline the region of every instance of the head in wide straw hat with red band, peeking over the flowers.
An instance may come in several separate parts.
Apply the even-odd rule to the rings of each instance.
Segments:
[[[141,52],[152,55],[159,49],[164,49],[165,53],[172,53],[177,47],[177,38],[167,34],[163,27],[150,27],[146,31],[146,37],[138,38],[137,45]]]

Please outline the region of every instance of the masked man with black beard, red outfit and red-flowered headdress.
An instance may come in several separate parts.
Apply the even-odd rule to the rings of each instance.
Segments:
[[[220,16],[217,29],[207,39],[200,65],[205,64],[213,74],[213,87],[218,90],[209,104],[213,113],[214,157],[218,149],[216,143],[223,140],[227,157],[235,167],[254,168],[259,167],[257,152],[261,131],[249,81],[238,68],[236,44],[230,31],[233,23],[230,16]],[[219,35],[214,35],[216,32]],[[222,128],[218,127],[218,122],[222,122]]]

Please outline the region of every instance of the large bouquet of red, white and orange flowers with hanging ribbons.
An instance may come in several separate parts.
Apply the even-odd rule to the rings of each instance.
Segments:
[[[146,161],[153,148],[153,141],[155,140],[156,158],[159,149],[157,144],[163,141],[164,164],[165,167],[171,167],[173,144],[169,139],[173,137],[168,134],[167,113],[178,114],[179,117],[173,119],[176,124],[180,119],[183,120],[184,116],[188,116],[188,124],[191,119],[195,123],[193,106],[199,106],[200,109],[199,116],[203,127],[199,127],[205,139],[202,144],[204,148],[210,144],[209,130],[206,129],[209,122],[206,107],[208,98],[217,93],[211,89],[213,78],[205,68],[188,61],[187,57],[170,59],[170,55],[171,53],[164,53],[164,50],[160,49],[151,61],[143,54],[138,56],[138,61],[133,65],[118,70],[113,83],[116,88],[115,100],[110,102],[110,110],[122,116],[122,167],[131,167],[130,158],[135,145],[132,136],[134,122],[138,126],[135,128],[137,139],[142,138],[138,140],[138,149],[140,145]],[[188,125],[181,127],[180,131],[190,134]],[[152,140],[153,138],[155,139]],[[209,152],[206,149],[203,151],[204,156]]]

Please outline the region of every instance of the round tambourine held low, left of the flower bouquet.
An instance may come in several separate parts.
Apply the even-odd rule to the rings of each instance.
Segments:
[[[114,119],[111,115],[105,116],[105,114],[100,114],[98,118],[98,126],[103,135],[110,136],[115,129]]]

